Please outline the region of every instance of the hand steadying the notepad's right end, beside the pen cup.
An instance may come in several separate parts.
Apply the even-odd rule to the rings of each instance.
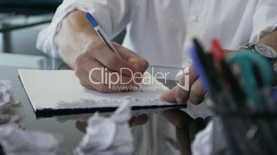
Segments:
[[[211,50],[208,49],[207,52]],[[232,51],[224,50],[224,53],[227,55]],[[201,84],[201,80],[198,78],[198,75],[192,65],[189,66],[189,91],[180,86],[175,86],[170,91],[165,92],[161,97],[165,99],[166,102],[178,102],[178,104],[186,104],[187,101],[192,104],[201,104],[207,92],[204,91]],[[184,86],[185,84],[185,74],[181,76],[178,84]]]

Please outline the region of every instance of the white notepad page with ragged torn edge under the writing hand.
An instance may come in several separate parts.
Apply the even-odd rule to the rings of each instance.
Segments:
[[[161,94],[168,90],[163,84],[149,75],[154,83],[145,84],[143,91],[125,93],[99,93],[84,88],[72,70],[32,70],[19,69],[19,76],[35,111],[66,110],[87,108],[116,108],[126,99],[136,108],[174,107],[178,104],[164,102]],[[149,90],[149,88],[157,88]],[[179,105],[180,106],[180,105]]]

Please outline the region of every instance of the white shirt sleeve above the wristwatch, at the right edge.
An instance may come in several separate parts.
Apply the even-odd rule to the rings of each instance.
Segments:
[[[277,1],[259,0],[253,16],[253,32],[250,43],[258,43],[258,40],[274,32],[277,27]]]

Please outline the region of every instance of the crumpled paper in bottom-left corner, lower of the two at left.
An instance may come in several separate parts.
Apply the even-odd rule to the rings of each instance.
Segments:
[[[0,145],[8,155],[57,155],[61,140],[59,135],[0,126]]]

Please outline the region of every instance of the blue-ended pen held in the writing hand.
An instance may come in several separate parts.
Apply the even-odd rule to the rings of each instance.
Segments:
[[[96,22],[96,20],[93,18],[93,16],[90,13],[86,13],[85,16],[87,17],[88,21],[90,22],[90,24],[94,27],[95,31],[97,32],[97,34],[100,36],[100,38],[103,40],[103,42],[105,43],[105,45],[107,45],[107,47],[109,47],[112,51],[114,51],[114,53],[116,53],[117,56],[119,56],[119,58],[121,58],[121,56],[119,55],[119,52],[116,50],[116,48],[114,47],[114,45],[112,45],[112,42],[110,41],[110,39],[107,37],[107,35],[105,34],[105,32],[103,31],[103,29],[101,28],[101,26]],[[121,58],[122,59],[122,58]]]

